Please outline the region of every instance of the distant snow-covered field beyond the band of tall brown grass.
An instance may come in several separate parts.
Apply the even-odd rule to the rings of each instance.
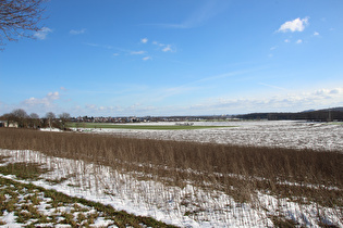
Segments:
[[[140,125],[175,125],[144,123]],[[195,122],[197,125],[233,126],[198,130],[84,129],[87,132],[122,135],[136,138],[282,147],[343,152],[343,123],[296,121]]]

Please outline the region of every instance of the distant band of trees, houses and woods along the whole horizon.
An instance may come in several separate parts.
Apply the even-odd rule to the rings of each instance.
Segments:
[[[48,112],[44,117],[36,113],[27,114],[24,110],[13,110],[0,116],[0,127],[45,128],[57,127],[65,129],[68,123],[149,123],[149,122],[236,122],[236,121],[308,121],[308,122],[343,122],[343,107],[333,107],[318,111],[297,113],[249,113],[242,115],[203,115],[203,116],[78,116],[72,117],[69,113],[54,115]]]

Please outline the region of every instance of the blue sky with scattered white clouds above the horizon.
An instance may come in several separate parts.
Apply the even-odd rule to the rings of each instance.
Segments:
[[[343,106],[341,0],[50,0],[0,51],[0,115]]]

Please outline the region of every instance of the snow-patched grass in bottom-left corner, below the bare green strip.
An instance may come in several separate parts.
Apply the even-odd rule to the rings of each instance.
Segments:
[[[4,181],[5,182],[5,181]],[[1,204],[5,204],[0,216],[0,227],[20,228],[34,227],[115,227],[113,220],[106,219],[97,210],[82,203],[65,203],[45,195],[45,191],[33,186],[29,188],[16,182],[0,185],[7,192]],[[15,202],[15,203],[13,203]],[[1,215],[0,214],[0,215]],[[2,225],[2,226],[1,226]]]

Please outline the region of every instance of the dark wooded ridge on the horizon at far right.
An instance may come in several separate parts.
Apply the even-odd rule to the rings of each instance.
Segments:
[[[307,111],[298,113],[249,113],[234,116],[243,119],[268,119],[268,121],[314,121],[314,122],[342,122],[343,107]]]

